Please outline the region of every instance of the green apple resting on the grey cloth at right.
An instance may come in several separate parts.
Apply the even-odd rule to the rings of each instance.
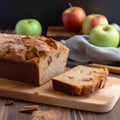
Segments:
[[[90,32],[89,42],[100,47],[118,47],[119,33],[112,25],[97,25]]]

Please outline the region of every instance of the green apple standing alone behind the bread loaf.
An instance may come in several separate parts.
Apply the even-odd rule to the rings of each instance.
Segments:
[[[15,33],[39,36],[42,34],[42,26],[37,19],[21,19],[15,25]]]

